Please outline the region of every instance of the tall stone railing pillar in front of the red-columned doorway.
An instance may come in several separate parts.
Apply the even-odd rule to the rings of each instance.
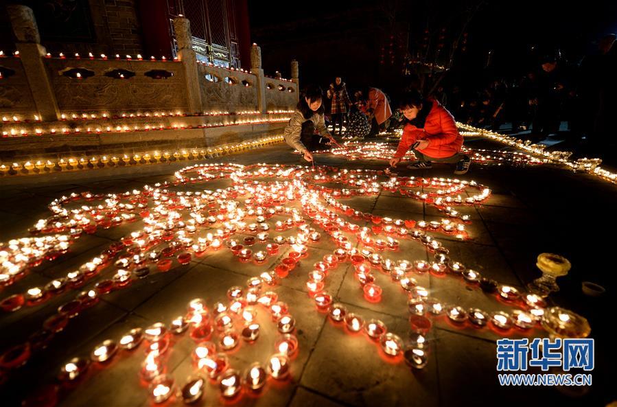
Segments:
[[[202,113],[204,106],[201,100],[200,73],[197,65],[197,55],[193,50],[191,22],[184,16],[174,19],[174,32],[178,43],[178,60],[182,61],[187,86],[189,112]]]

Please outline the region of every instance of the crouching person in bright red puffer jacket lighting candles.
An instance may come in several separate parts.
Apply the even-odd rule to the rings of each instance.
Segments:
[[[423,99],[419,92],[408,93],[400,104],[408,123],[403,129],[399,148],[390,160],[391,167],[413,148],[418,161],[408,165],[410,170],[431,168],[432,162],[456,163],[454,174],[465,174],[471,159],[461,153],[463,136],[458,133],[454,117],[434,99]]]

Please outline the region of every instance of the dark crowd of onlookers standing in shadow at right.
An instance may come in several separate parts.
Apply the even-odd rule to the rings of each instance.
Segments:
[[[598,40],[594,54],[579,63],[545,54],[521,78],[492,79],[482,89],[439,86],[434,97],[447,106],[457,121],[481,128],[518,132],[541,141],[567,124],[574,141],[603,148],[614,143],[612,112],[617,107],[617,46],[610,34]]]

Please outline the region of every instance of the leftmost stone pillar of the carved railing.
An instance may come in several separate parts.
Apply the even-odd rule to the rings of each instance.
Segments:
[[[11,25],[17,42],[15,43],[21,64],[27,77],[32,98],[40,118],[45,121],[60,119],[56,95],[47,76],[43,64],[43,56],[47,53],[40,45],[38,27],[32,9],[21,4],[7,5],[6,9],[11,19]]]

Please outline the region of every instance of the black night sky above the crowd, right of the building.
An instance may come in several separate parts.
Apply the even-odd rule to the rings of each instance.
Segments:
[[[401,10],[395,19],[408,25],[413,47],[427,23],[458,32],[457,16],[475,3],[478,0],[316,0],[293,13],[288,2],[270,1],[266,8],[253,0],[249,10],[252,40],[261,46],[267,73],[278,69],[289,77],[289,61],[296,58],[305,84],[325,86],[334,75],[343,75],[348,83],[379,86],[376,59],[381,45],[375,32],[384,26],[382,8]],[[493,70],[514,77],[531,63],[532,45],[542,54],[560,49],[565,58],[578,62],[594,49],[598,36],[617,32],[617,1],[487,0],[467,32],[467,68],[482,71],[493,49]]]

